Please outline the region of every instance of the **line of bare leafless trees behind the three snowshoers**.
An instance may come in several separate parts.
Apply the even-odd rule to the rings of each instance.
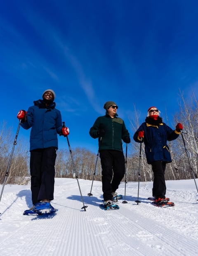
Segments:
[[[179,111],[173,117],[174,126],[176,123],[182,123],[183,138],[179,135],[177,140],[169,142],[172,163],[167,164],[165,171],[166,180],[181,180],[193,178],[193,173],[198,178],[198,100],[194,94],[191,99],[186,101],[180,92],[181,102]],[[145,116],[146,117],[146,116]],[[174,127],[168,122],[168,117],[162,116],[163,121],[170,127]],[[166,119],[166,120],[165,120]],[[153,173],[151,165],[146,162],[144,153],[144,144],[142,144],[140,154],[140,144],[134,142],[132,136],[139,127],[139,116],[135,110],[135,118],[130,120],[131,123],[131,143],[127,145],[127,161],[125,164],[127,181],[138,181],[140,170],[140,180],[143,182],[151,181]],[[5,180],[10,154],[13,147],[14,135],[12,128],[7,128],[6,123],[0,127],[0,184]],[[185,149],[185,146],[186,149]],[[14,148],[14,154],[9,166],[7,175],[7,184],[26,184],[30,180],[29,173],[29,143],[25,140],[17,141]],[[123,144],[124,154],[126,145]],[[96,153],[86,148],[75,148],[72,150],[73,160],[77,176],[85,180],[101,180],[101,164]],[[126,155],[125,155],[126,156]],[[189,159],[188,159],[189,156]],[[189,164],[190,160],[190,164]],[[76,178],[73,162],[69,150],[59,149],[55,164],[55,177],[57,178]],[[123,178],[123,181],[125,177]]]

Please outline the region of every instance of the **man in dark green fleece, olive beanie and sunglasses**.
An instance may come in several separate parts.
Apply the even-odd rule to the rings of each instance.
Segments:
[[[102,167],[102,191],[104,207],[113,204],[121,180],[125,175],[123,142],[130,143],[130,134],[123,119],[118,117],[118,106],[113,101],[104,104],[105,116],[99,116],[90,128],[90,136],[99,141]]]

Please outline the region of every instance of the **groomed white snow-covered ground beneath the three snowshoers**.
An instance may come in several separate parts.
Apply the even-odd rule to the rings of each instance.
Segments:
[[[196,180],[198,183],[198,180]],[[167,181],[175,206],[158,208],[147,197],[152,183],[126,184],[119,210],[104,211],[101,182],[56,178],[55,216],[23,216],[31,207],[30,185],[6,185],[0,202],[0,255],[9,256],[193,256],[198,255],[198,194],[194,180]],[[0,186],[0,190],[2,186]],[[125,183],[118,193],[125,194]]]

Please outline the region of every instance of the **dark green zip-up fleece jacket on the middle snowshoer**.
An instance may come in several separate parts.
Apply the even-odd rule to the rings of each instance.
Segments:
[[[111,118],[108,114],[99,116],[90,128],[90,136],[94,139],[98,138],[99,130],[105,131],[99,150],[113,149],[123,152],[122,140],[125,142],[125,137],[130,137],[123,119],[119,118],[117,114],[114,118]]]

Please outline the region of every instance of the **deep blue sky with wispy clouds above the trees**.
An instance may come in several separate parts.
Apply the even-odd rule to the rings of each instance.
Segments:
[[[50,88],[71,149],[97,154],[89,130],[105,114],[104,102],[119,106],[132,137],[134,106],[140,123],[151,106],[171,119],[179,89],[185,99],[198,96],[197,81],[197,1],[1,1],[1,123],[14,132],[18,111]],[[29,134],[21,128],[18,140]],[[59,147],[68,149],[64,137]]]

